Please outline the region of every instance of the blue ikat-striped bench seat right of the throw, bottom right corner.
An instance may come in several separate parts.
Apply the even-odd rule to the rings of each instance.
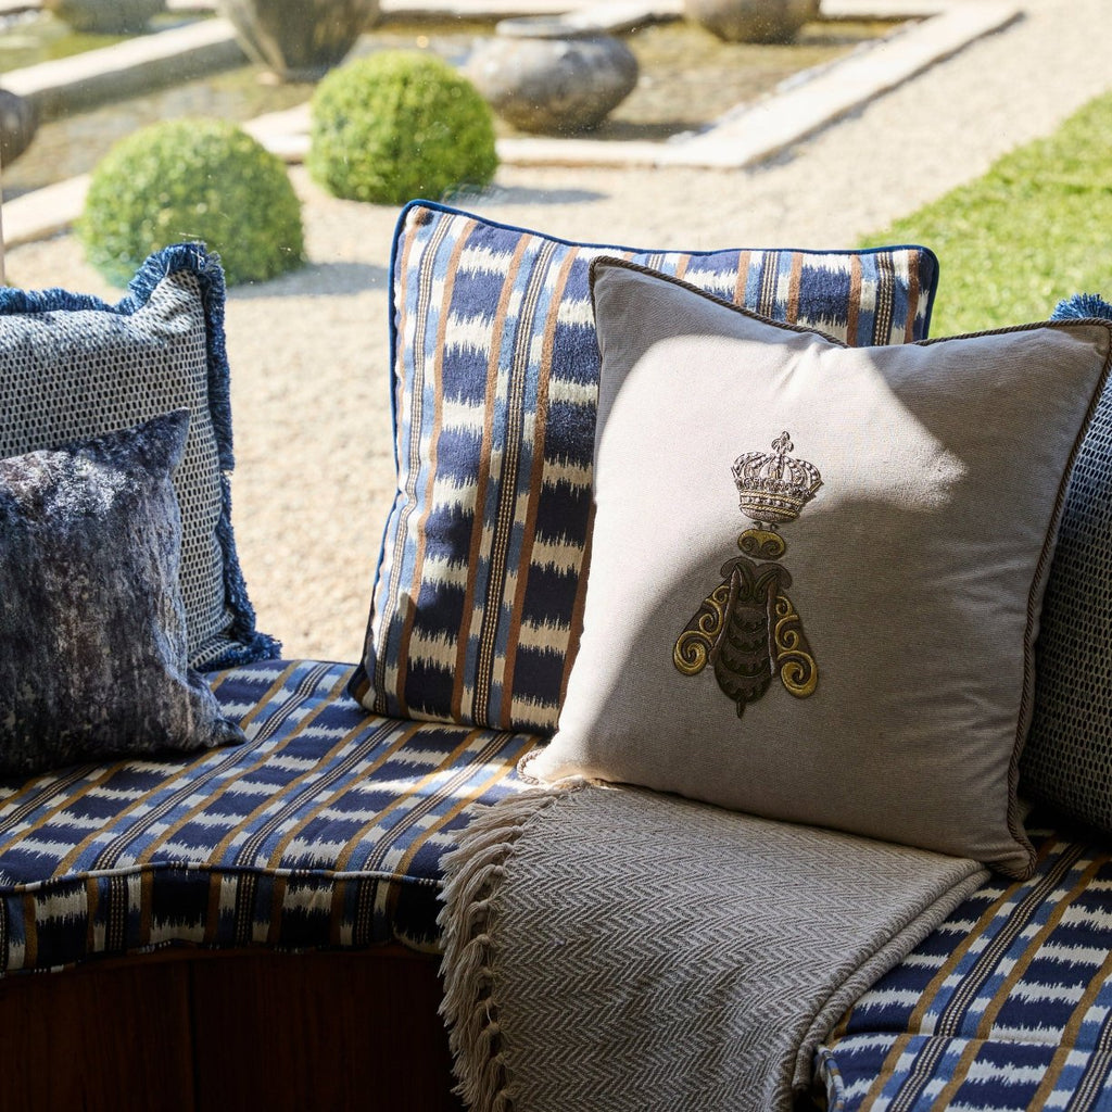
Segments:
[[[853,1006],[818,1053],[837,1112],[1112,1109],[1112,853],[1037,836]]]

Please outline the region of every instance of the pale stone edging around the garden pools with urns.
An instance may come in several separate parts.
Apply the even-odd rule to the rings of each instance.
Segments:
[[[600,29],[617,29],[649,19],[674,18],[682,0],[618,0],[568,11],[564,0],[428,0],[419,8],[413,0],[384,0],[391,16],[437,11],[476,18],[481,14],[537,14],[562,9],[569,21],[585,18]],[[921,22],[901,28],[878,43],[796,79],[787,88],[752,105],[727,112],[708,129],[666,142],[620,142],[550,138],[499,140],[504,162],[523,166],[625,166],[739,168],[764,161],[813,135],[868,100],[895,88],[916,73],[1000,30],[1020,14],[1012,0],[825,0],[824,14],[833,18],[923,16]],[[231,61],[224,60],[230,50]],[[230,24],[224,19],[89,51],[76,59],[46,62],[3,76],[3,85],[43,106],[66,97],[80,98],[96,85],[98,92],[116,81],[126,91],[141,82],[155,66],[173,62],[189,51],[193,73],[232,64],[241,58]],[[308,149],[308,106],[259,117],[246,125],[268,148],[288,161],[299,161]],[[81,211],[89,176],[81,175],[26,193],[3,207],[7,246],[30,242],[67,228]]]

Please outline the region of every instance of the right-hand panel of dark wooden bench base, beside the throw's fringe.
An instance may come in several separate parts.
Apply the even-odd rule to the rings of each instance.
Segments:
[[[198,1109],[459,1112],[437,964],[399,947],[193,963]]]

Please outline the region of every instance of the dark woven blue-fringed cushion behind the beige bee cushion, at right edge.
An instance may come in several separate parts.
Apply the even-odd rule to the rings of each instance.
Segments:
[[[1058,319],[1112,318],[1093,295]],[[1034,719],[1020,787],[1112,832],[1112,389],[1104,391],[1070,478],[1035,648]]]

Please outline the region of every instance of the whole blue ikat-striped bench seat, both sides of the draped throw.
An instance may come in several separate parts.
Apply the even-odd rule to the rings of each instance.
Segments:
[[[215,674],[246,745],[0,784],[0,974],[169,945],[435,950],[441,858],[525,786],[537,738],[367,714],[350,674]],[[1112,852],[1035,841],[1031,880],[986,883],[838,1024],[833,1109],[1112,1108]]]

